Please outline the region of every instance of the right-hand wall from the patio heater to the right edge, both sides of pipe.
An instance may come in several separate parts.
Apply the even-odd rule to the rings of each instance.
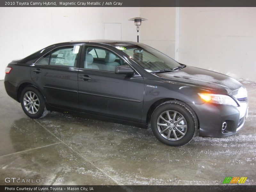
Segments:
[[[174,58],[176,40],[179,62],[256,81],[255,7],[141,7],[140,16],[142,43]]]

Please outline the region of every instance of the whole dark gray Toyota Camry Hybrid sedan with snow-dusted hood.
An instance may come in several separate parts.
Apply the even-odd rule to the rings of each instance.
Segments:
[[[13,60],[6,92],[25,114],[72,110],[146,127],[162,143],[187,144],[235,134],[248,114],[246,89],[235,79],[180,64],[141,43],[72,41]],[[104,129],[104,127],[102,127]]]

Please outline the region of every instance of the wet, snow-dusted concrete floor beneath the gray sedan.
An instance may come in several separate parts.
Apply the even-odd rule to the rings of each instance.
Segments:
[[[0,81],[0,185],[8,184],[6,177],[58,178],[62,185],[220,185],[227,176],[248,177],[245,184],[256,185],[256,84],[243,83],[249,118],[236,135],[197,136],[186,146],[169,147],[151,130],[83,115],[30,119]]]

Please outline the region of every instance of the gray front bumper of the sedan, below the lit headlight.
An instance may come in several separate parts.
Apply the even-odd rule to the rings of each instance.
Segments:
[[[248,114],[248,103],[243,102],[239,107],[216,105],[212,103],[189,104],[194,109],[199,120],[199,136],[227,137],[235,134],[244,125]],[[225,130],[222,130],[226,122]]]

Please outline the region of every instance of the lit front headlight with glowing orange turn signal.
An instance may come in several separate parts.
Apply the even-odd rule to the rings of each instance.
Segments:
[[[202,100],[206,102],[221,104],[221,105],[232,105],[238,106],[236,101],[228,95],[218,95],[210,93],[198,93]]]

